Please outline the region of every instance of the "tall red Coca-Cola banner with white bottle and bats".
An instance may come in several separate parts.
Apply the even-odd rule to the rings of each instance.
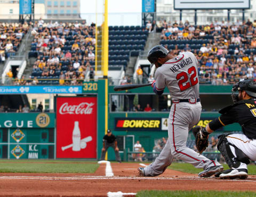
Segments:
[[[96,158],[97,97],[58,97],[56,110],[56,158]]]

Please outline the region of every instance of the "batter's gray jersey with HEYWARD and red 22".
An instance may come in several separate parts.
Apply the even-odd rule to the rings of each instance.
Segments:
[[[199,98],[197,65],[191,52],[183,52],[168,60],[156,70],[156,89],[161,91],[166,86],[173,100]]]

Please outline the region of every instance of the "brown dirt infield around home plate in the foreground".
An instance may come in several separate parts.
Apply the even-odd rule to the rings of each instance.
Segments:
[[[107,196],[108,192],[140,190],[231,190],[256,192],[256,176],[245,180],[198,178],[195,174],[167,169],[158,177],[137,177],[138,163],[111,163],[114,176],[106,177],[106,165],[94,174],[0,175],[0,196]]]

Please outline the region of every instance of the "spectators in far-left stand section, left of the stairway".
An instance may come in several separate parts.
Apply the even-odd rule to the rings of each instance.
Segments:
[[[23,36],[30,24],[0,23],[0,63],[18,51]]]

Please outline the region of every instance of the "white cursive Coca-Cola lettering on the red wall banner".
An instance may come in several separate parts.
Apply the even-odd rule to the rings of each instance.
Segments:
[[[68,103],[63,103],[60,106],[60,114],[91,114],[92,106],[94,103],[79,103],[78,105],[70,105]]]

